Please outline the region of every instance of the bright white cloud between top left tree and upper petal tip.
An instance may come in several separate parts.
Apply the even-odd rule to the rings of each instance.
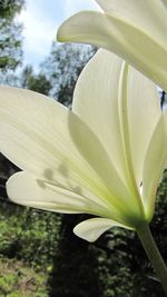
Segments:
[[[55,20],[45,18],[37,2],[35,4],[35,1],[33,3],[31,0],[27,1],[27,9],[19,16],[19,20],[23,23],[24,62],[33,63],[35,68],[49,53],[58,28]]]

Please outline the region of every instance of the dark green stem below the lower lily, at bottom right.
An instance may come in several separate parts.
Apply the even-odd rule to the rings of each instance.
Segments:
[[[138,229],[137,234],[143,242],[146,254],[154,266],[159,281],[167,295],[167,267],[161,258],[161,255],[157,248],[157,245],[153,238],[148,224],[143,224]]]

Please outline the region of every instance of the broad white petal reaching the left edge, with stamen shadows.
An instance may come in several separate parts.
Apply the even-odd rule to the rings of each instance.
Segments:
[[[112,198],[118,200],[100,176],[105,162],[109,168],[106,151],[75,113],[28,90],[4,87],[0,88],[0,149],[7,158],[65,189],[87,189],[92,199],[106,206],[111,207]],[[79,139],[84,156],[73,137]]]

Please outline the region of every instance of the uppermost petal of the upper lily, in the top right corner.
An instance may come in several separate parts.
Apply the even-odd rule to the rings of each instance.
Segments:
[[[166,0],[165,0],[166,1]],[[147,31],[157,40],[165,43],[167,11],[159,0],[96,0],[109,16],[120,18],[134,27]]]

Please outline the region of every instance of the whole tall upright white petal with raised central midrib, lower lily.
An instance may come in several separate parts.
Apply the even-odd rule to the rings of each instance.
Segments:
[[[161,115],[155,85],[132,68],[128,69],[127,81],[122,77],[120,85],[122,67],[124,61],[117,56],[99,50],[79,77],[72,105],[73,112],[89,122],[110,157],[111,189],[120,184],[116,180],[117,174],[127,188],[132,187],[127,180],[132,172],[140,185],[146,149]],[[124,88],[127,93],[121,93]],[[129,159],[132,159],[132,168],[129,166],[127,172]],[[130,194],[128,201],[138,204]]]

